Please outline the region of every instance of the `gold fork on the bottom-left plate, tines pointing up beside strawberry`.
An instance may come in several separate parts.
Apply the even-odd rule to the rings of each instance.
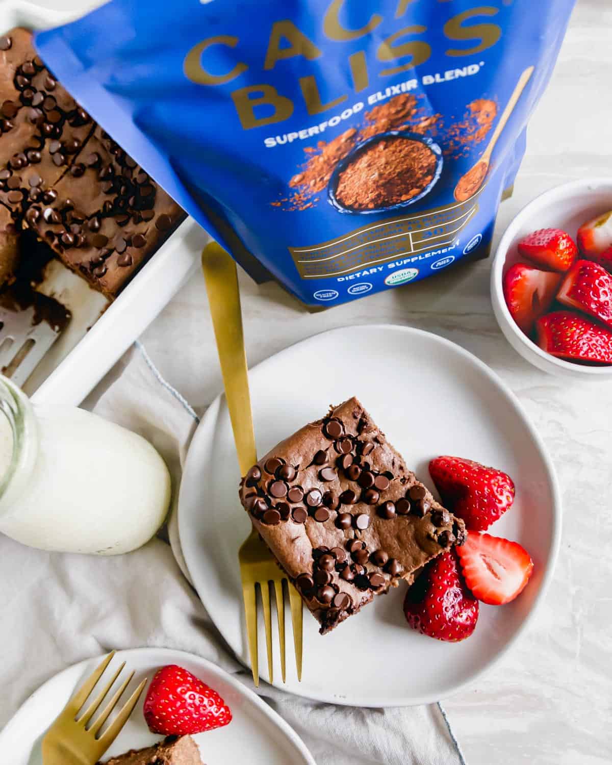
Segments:
[[[106,667],[109,666],[113,656],[115,656],[115,651],[109,653],[93,674],[86,679],[45,734],[42,741],[44,765],[94,765],[103,756],[112,742],[115,741],[121,729],[128,721],[138,702],[138,698],[142,694],[143,688],[147,684],[146,678],[138,685],[138,688],[132,693],[128,701],[125,702],[125,705],[119,711],[119,715],[112,721],[109,728],[101,736],[98,735],[100,728],[109,718],[112,710],[116,708],[117,702],[119,702],[119,698],[121,698],[125,688],[128,687],[129,682],[132,680],[134,672],[129,673],[128,677],[112,695],[109,703],[96,721],[87,728],[87,724],[90,723],[96,710],[112,688],[113,683],[121,674],[125,667],[125,662],[119,666],[119,669],[116,670],[110,681],[99,692],[96,698],[93,699],[83,712],[83,715],[77,718],[80,708],[85,704],[87,697],[102,677]]]

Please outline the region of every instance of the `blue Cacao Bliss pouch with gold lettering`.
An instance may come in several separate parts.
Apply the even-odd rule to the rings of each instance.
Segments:
[[[487,256],[573,5],[112,0],[35,44],[254,278],[320,306]]]

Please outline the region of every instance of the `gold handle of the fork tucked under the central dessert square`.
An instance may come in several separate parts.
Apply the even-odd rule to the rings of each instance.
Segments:
[[[202,252],[202,271],[213,317],[216,349],[219,352],[240,473],[244,476],[256,463],[257,450],[236,263],[222,247],[211,242]]]

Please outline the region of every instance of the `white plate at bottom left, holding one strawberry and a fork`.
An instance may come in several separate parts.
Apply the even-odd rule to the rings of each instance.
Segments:
[[[0,734],[0,749],[10,753],[11,765],[40,765],[41,737],[100,660],[101,657],[86,659],[64,669],[28,698]],[[129,685],[131,689],[143,678],[151,679],[161,666],[178,664],[220,693],[232,710],[233,719],[223,728],[194,736],[206,765],[315,765],[298,735],[275,711],[249,688],[206,659],[164,648],[118,651],[104,677],[110,677],[112,667],[119,666],[122,661],[126,662],[126,669],[135,670],[135,677]],[[129,749],[150,747],[161,740],[161,736],[148,731],[142,716],[144,697],[145,694],[103,760]]]

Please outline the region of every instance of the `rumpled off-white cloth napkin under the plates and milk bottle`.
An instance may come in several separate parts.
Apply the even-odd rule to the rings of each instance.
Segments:
[[[197,415],[139,343],[87,404],[158,448],[176,496]],[[113,558],[41,552],[0,535],[0,727],[56,672],[111,648],[190,651],[253,687],[249,670],[230,653],[181,574],[186,569],[174,517],[168,535],[172,549],[158,538]],[[297,731],[318,765],[465,765],[439,705],[342,707],[265,683],[257,692]]]

